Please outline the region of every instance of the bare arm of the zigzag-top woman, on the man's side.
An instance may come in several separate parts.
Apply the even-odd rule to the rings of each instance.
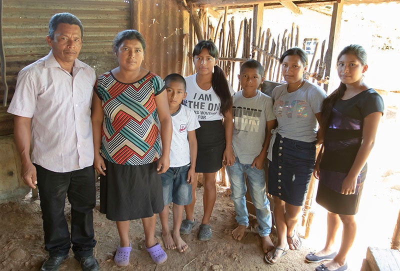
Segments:
[[[101,106],[101,100],[93,94],[91,99],[91,124],[93,128],[93,147],[94,147],[94,161],[93,166],[98,174],[105,175],[104,159],[100,155],[101,147],[101,125],[104,119],[104,111]]]

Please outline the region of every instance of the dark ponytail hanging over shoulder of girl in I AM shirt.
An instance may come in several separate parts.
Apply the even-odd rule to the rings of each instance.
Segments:
[[[214,66],[214,72],[212,73],[212,89],[221,101],[219,108],[220,113],[225,113],[232,109],[232,96],[230,95],[228,82],[226,80],[225,72],[218,66]]]

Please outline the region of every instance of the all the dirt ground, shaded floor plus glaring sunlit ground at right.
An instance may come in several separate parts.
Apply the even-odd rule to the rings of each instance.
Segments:
[[[400,104],[398,98],[398,95],[388,96],[385,97],[385,102]],[[397,110],[397,106],[394,109]],[[398,182],[400,165],[397,158],[400,153],[400,144],[393,143],[398,142],[400,113],[397,112],[396,116],[394,112],[388,110],[384,121],[380,123],[376,143],[368,159],[368,175],[362,191],[359,212],[356,215],[357,236],[347,258],[349,270],[352,271],[360,269],[367,246],[390,247],[390,238],[397,219],[398,206],[400,206]],[[202,215],[202,193],[203,188],[197,188],[194,214],[198,220]],[[143,248],[144,233],[140,220],[132,221],[130,238],[133,249],[130,263],[127,267],[117,267],[113,262],[113,254],[119,242],[115,223],[99,213],[98,206],[97,191],[97,204],[94,209],[97,245],[94,254],[100,263],[101,270],[314,270],[318,263],[306,263],[304,255],[310,250],[320,249],[324,244],[326,234],[326,211],[314,202],[312,211],[315,214],[310,235],[307,239],[303,239],[301,249],[289,251],[278,263],[268,265],[264,261],[261,240],[255,230],[255,217],[250,217],[250,226],[241,241],[236,241],[231,237],[231,230],[236,226],[233,203],[229,199],[229,190],[218,187],[217,200],[211,216],[213,230],[211,240],[206,242],[197,240],[197,224],[191,234],[183,237],[189,245],[185,252],[179,253],[176,249],[166,250],[167,261],[155,265]],[[31,194],[28,194],[23,198],[2,203],[0,214],[0,270],[38,270],[43,260],[47,258],[47,252],[43,249],[39,200],[33,199]],[[68,203],[65,214],[70,222]],[[170,228],[172,228],[171,215]],[[341,230],[336,238],[337,245],[340,243],[340,232]],[[155,233],[158,241],[163,245],[158,219]],[[304,228],[300,227],[299,234],[303,233]],[[275,237],[276,233],[273,229],[272,241],[275,241]],[[60,270],[80,270],[72,252],[61,265]]]

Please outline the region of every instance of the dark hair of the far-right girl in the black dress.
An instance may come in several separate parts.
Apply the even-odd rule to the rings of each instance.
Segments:
[[[345,46],[337,56],[337,61],[339,61],[340,57],[343,54],[353,54],[362,65],[366,64],[366,52],[361,45],[358,44],[351,44]],[[320,123],[320,132],[322,135],[325,133],[325,130],[329,123],[330,113],[332,111],[333,105],[335,102],[343,97],[344,91],[346,91],[346,85],[340,82],[339,87],[334,90],[326,99],[323,100],[321,106],[321,123]]]

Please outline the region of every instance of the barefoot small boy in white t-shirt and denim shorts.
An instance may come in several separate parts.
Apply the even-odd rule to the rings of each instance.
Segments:
[[[168,96],[169,112],[172,118],[172,140],[169,154],[170,165],[162,173],[164,209],[159,213],[162,239],[167,249],[177,248],[179,252],[188,245],[180,237],[179,228],[183,216],[183,206],[191,202],[191,182],[195,176],[197,139],[195,129],[200,127],[194,112],[181,104],[186,97],[186,81],[177,73],[164,79]],[[169,203],[173,202],[173,228],[169,230]]]

